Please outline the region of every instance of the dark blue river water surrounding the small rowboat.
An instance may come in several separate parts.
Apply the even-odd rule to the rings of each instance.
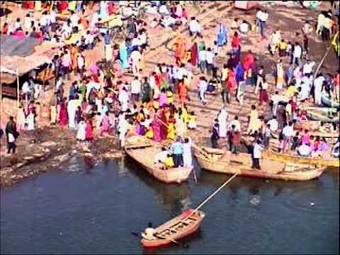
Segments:
[[[237,177],[202,210],[200,230],[143,249],[139,232],[194,208],[229,176],[166,185],[131,159],[72,162],[1,190],[2,254],[339,254],[339,171],[308,182]]]

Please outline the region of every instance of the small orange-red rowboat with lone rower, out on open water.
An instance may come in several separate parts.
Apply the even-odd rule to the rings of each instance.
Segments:
[[[176,241],[196,232],[205,217],[205,213],[198,210],[190,215],[191,212],[193,212],[193,209],[186,210],[181,215],[157,227],[155,229],[157,231],[157,237],[154,240],[142,238],[140,241],[142,246],[156,247],[171,244],[173,242],[171,240]],[[188,217],[189,215],[190,217]]]

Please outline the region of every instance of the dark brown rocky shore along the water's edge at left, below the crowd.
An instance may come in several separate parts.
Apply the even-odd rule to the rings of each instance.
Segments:
[[[98,137],[89,145],[81,145],[75,139],[74,131],[52,127],[23,133],[18,142],[18,153],[14,155],[6,154],[5,139],[1,144],[0,187],[62,169],[74,157],[91,158],[94,162],[124,157],[116,137]]]

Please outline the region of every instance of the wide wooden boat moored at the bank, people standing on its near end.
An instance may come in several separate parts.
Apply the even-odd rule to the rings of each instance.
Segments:
[[[162,145],[145,137],[132,136],[125,141],[125,152],[145,168],[149,174],[165,183],[181,183],[186,181],[193,167],[177,167],[167,170],[161,165],[154,164],[154,154],[162,150]]]

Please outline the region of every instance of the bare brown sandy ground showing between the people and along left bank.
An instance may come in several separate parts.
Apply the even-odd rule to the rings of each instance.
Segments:
[[[281,30],[281,35],[286,40],[294,40],[295,32],[299,31],[303,23],[306,20],[314,23],[317,17],[317,11],[308,10],[297,7],[285,7],[280,4],[265,6],[269,13],[269,21],[267,31],[272,31],[276,28]],[[327,9],[327,3],[323,3],[320,9]],[[212,46],[213,40],[216,38],[217,25],[222,22],[229,27],[234,18],[246,19],[247,21],[254,21],[256,10],[241,11],[232,9],[228,2],[214,1],[208,2],[202,9],[201,13],[191,6],[186,7],[189,16],[196,16],[203,25],[204,31],[203,36],[206,45]],[[22,16],[23,11],[14,11],[8,14],[9,19],[16,18],[18,15]],[[152,16],[147,16],[152,19]],[[183,35],[187,32],[184,27],[179,28],[179,31]],[[229,40],[232,32],[229,30]],[[164,28],[157,28],[156,30],[149,29],[149,42],[150,49],[145,55],[146,68],[143,70],[143,74],[147,75],[151,72],[159,62],[174,63],[173,52],[171,51],[171,45],[174,39],[174,33]],[[268,41],[260,40],[259,33],[256,31],[249,32],[248,35],[242,35],[242,51],[246,52],[251,50],[256,54],[260,64],[265,67],[266,74],[272,74],[274,64],[277,61],[276,57],[271,57],[266,45]],[[220,67],[222,63],[227,60],[226,53],[229,52],[230,46],[226,46],[223,49],[221,57],[219,57],[218,64]],[[310,52],[312,52],[312,59],[319,63],[322,59],[324,52],[326,51],[326,45],[324,45],[316,35],[310,37]],[[101,60],[103,58],[103,44],[100,43],[94,50],[86,52],[86,65],[91,62]],[[326,58],[322,67],[322,72],[334,72],[338,68],[338,60],[331,51],[329,56]],[[200,77],[198,69],[193,69],[195,75],[195,81]],[[126,74],[123,80],[129,81],[132,78],[131,74]],[[71,84],[75,79],[79,77],[72,77],[67,84]],[[273,91],[273,77],[269,79],[270,88],[269,91]],[[48,89],[48,87],[47,87]],[[234,118],[234,115],[238,115],[239,119],[244,124],[243,128],[246,128],[247,116],[250,113],[250,107],[252,104],[257,105],[257,96],[253,92],[254,89],[247,88],[244,96],[244,105],[240,106],[235,100],[227,106],[227,111],[230,118]],[[193,140],[199,145],[210,145],[210,126],[212,120],[222,108],[222,100],[220,95],[211,94],[208,95],[208,104],[203,107],[198,102],[197,92],[195,88],[189,91],[191,101],[187,103],[189,111],[195,111],[198,115],[198,129],[189,132],[188,135],[193,137]],[[261,106],[259,108],[260,114],[266,115],[268,106]],[[222,146],[225,142],[220,140]],[[100,159],[101,155],[106,152],[110,152],[111,156],[121,156],[118,151],[116,139],[106,137],[94,142],[89,148],[84,148],[77,145],[75,140],[75,131],[64,130],[60,128],[44,128],[43,130],[35,130],[34,132],[26,132],[18,138],[18,149],[14,156],[6,156],[5,145],[6,140],[1,140],[1,186],[8,186],[21,179],[37,174],[41,171],[47,171],[49,169],[60,168],[60,162],[67,162],[70,158],[77,154],[84,157],[94,157]],[[99,146],[101,145],[101,146]],[[86,156],[87,154],[87,156]],[[43,163],[43,164],[41,164]],[[31,174],[32,173],[32,174]]]

